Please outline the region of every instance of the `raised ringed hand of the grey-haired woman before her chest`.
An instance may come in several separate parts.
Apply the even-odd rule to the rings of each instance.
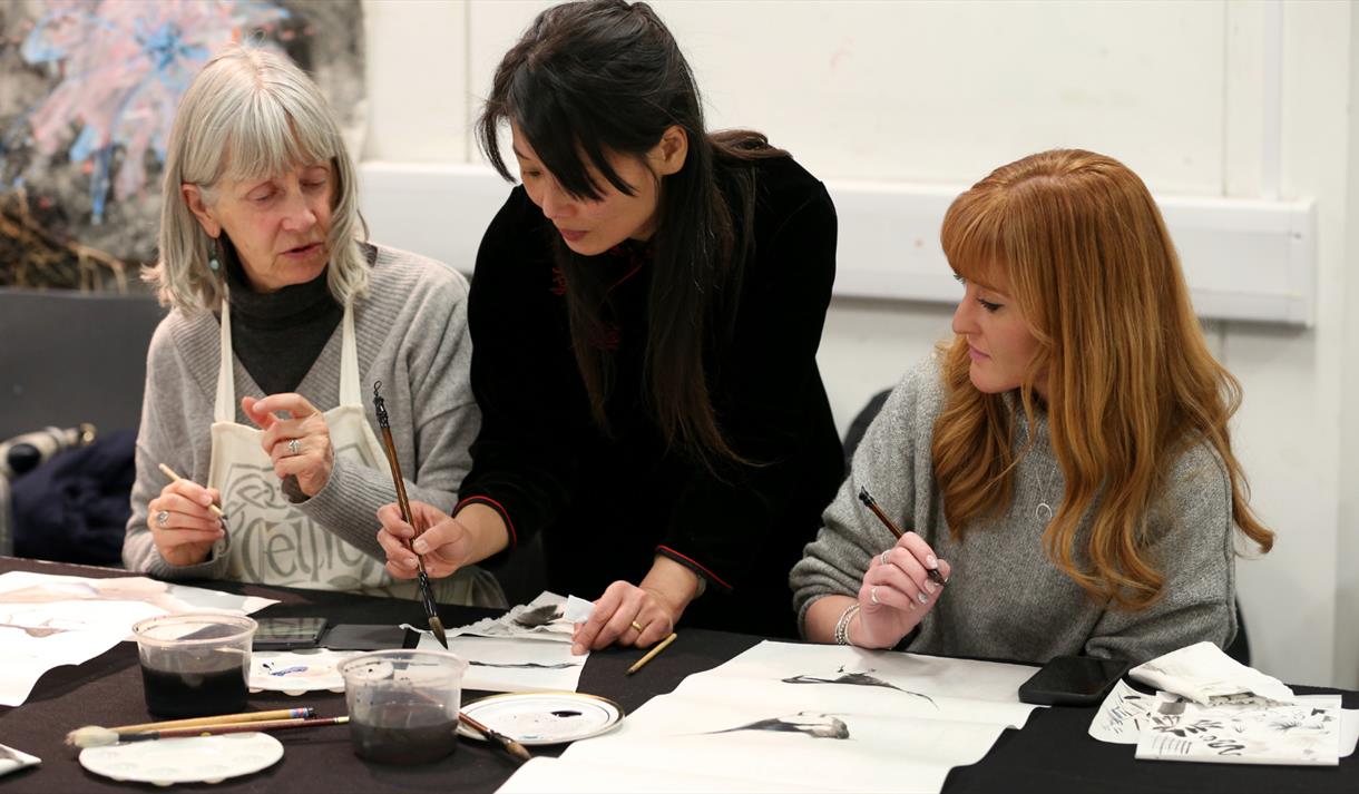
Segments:
[[[241,408],[260,426],[264,436],[260,446],[273,461],[279,479],[296,477],[298,487],[307,496],[315,496],[330,481],[334,468],[334,447],[326,417],[302,394],[270,394],[264,400],[245,397]],[[287,411],[291,419],[275,416]]]

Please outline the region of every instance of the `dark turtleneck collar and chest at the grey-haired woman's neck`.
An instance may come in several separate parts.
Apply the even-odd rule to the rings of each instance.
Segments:
[[[231,288],[231,352],[265,394],[296,392],[344,318],[326,271],[304,284],[257,292],[234,252],[223,258]]]

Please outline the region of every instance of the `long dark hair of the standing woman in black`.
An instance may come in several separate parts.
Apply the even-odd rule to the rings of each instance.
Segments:
[[[674,37],[650,5],[624,0],[548,8],[500,61],[477,137],[496,170],[514,181],[500,154],[501,122],[514,122],[561,188],[586,200],[603,194],[590,166],[633,196],[635,186],[607,155],[643,158],[669,128],[684,129],[688,155],[663,178],[650,241],[646,398],[671,446],[709,466],[750,462],[722,431],[709,397],[716,371],[705,366],[705,352],[727,339],[735,322],[753,246],[756,186],[749,166],[787,152],[756,132],[709,135],[699,87]],[[731,203],[718,185],[719,166]],[[612,284],[560,238],[554,245],[567,279],[576,364],[594,419],[607,430],[613,359],[598,341],[606,332]]]

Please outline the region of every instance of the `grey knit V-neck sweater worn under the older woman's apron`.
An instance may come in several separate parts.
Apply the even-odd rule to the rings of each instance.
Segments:
[[[481,424],[467,379],[472,339],[466,300],[467,280],[457,271],[416,254],[378,247],[368,296],[356,300],[353,307],[360,383],[368,386],[382,381],[406,492],[410,499],[446,511],[457,503],[458,487],[472,466],[467,447]],[[169,483],[156,464],[166,464],[196,483],[208,480],[219,333],[215,314],[174,310],[151,339],[137,434],[137,480],[122,547],[124,564],[132,571],[162,579],[212,579],[222,578],[226,571],[224,549],[230,547],[219,544],[201,564],[171,566],[160,556],[147,526],[147,503]],[[341,337],[342,324],[298,385],[298,393],[321,411],[340,401]],[[236,421],[254,427],[241,411],[239,398],[265,394],[239,360],[232,363]],[[364,411],[378,434],[371,401],[364,401]],[[298,507],[382,564],[386,555],[378,545],[375,514],[378,507],[391,502],[395,502],[395,488],[386,468],[368,469],[336,458],[325,488]],[[228,533],[226,542],[230,541]],[[450,594],[457,591],[462,594],[457,600],[474,605],[504,604],[495,578],[474,567],[436,582],[436,587],[440,601],[453,600]]]

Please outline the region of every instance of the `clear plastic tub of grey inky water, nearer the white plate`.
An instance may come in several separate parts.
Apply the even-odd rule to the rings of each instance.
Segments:
[[[341,662],[355,755],[378,764],[451,755],[466,670],[462,657],[440,650],[374,651]]]

